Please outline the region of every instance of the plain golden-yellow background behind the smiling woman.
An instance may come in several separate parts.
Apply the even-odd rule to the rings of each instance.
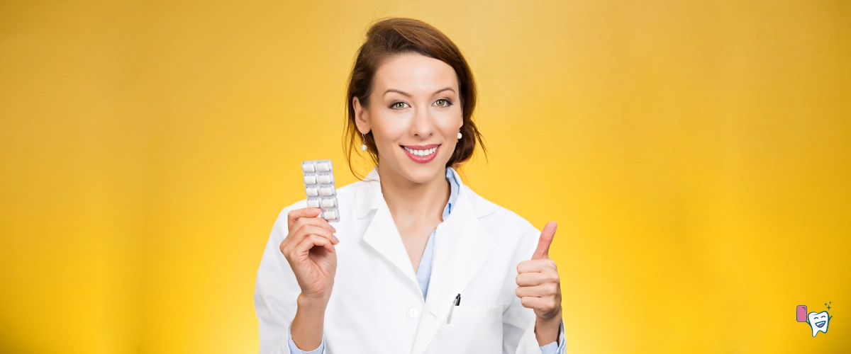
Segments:
[[[386,16],[470,61],[465,182],[560,222],[569,352],[851,351],[836,0],[2,2],[0,352],[257,352],[271,225],[300,160],[354,181],[346,75]]]

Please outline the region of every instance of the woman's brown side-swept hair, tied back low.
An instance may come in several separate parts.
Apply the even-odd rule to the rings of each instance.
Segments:
[[[470,160],[477,142],[482,145],[485,158],[488,157],[488,149],[484,147],[482,134],[472,121],[473,110],[476,109],[476,82],[473,81],[472,71],[464,56],[443,32],[420,20],[394,18],[374,23],[369,27],[366,37],[366,42],[357,49],[357,59],[351,68],[349,87],[346,92],[347,110],[343,149],[346,151],[346,161],[353,175],[363,179],[351,166],[351,151],[361,140],[357,137],[360,132],[357,131],[355,124],[355,107],[351,102],[352,98],[357,97],[363,107],[368,107],[375,71],[385,59],[400,53],[420,53],[426,57],[438,59],[451,66],[455,70],[455,75],[458,76],[464,117],[464,125],[461,126],[463,138],[455,145],[455,150],[446,166],[458,169],[466,160]],[[377,165],[378,149],[375,147],[371,131],[366,134],[363,143],[367,145],[369,157]]]

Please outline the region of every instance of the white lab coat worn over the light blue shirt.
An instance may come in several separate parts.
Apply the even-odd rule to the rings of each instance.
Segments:
[[[437,227],[424,301],[378,180],[373,169],[337,189],[340,243],[323,352],[540,354],[534,311],[515,295],[517,263],[531,259],[540,231],[461,183],[452,213]],[[254,306],[261,354],[289,353],[287,329],[301,289],[279,246],[288,212],[304,207],[302,199],[283,208],[260,261]],[[459,293],[461,305],[452,306]]]

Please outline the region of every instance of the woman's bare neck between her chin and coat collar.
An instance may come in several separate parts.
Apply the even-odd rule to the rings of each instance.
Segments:
[[[446,170],[426,183],[414,183],[390,168],[378,166],[381,194],[395,218],[416,222],[437,216],[442,220],[443,208],[449,201],[449,183]]]

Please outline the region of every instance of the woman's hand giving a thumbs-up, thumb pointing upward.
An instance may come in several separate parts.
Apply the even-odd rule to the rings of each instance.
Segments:
[[[556,261],[550,259],[550,244],[556,235],[556,222],[547,222],[538,239],[532,259],[517,264],[517,297],[523,307],[534,309],[537,322],[557,323],[562,320],[562,289]]]

